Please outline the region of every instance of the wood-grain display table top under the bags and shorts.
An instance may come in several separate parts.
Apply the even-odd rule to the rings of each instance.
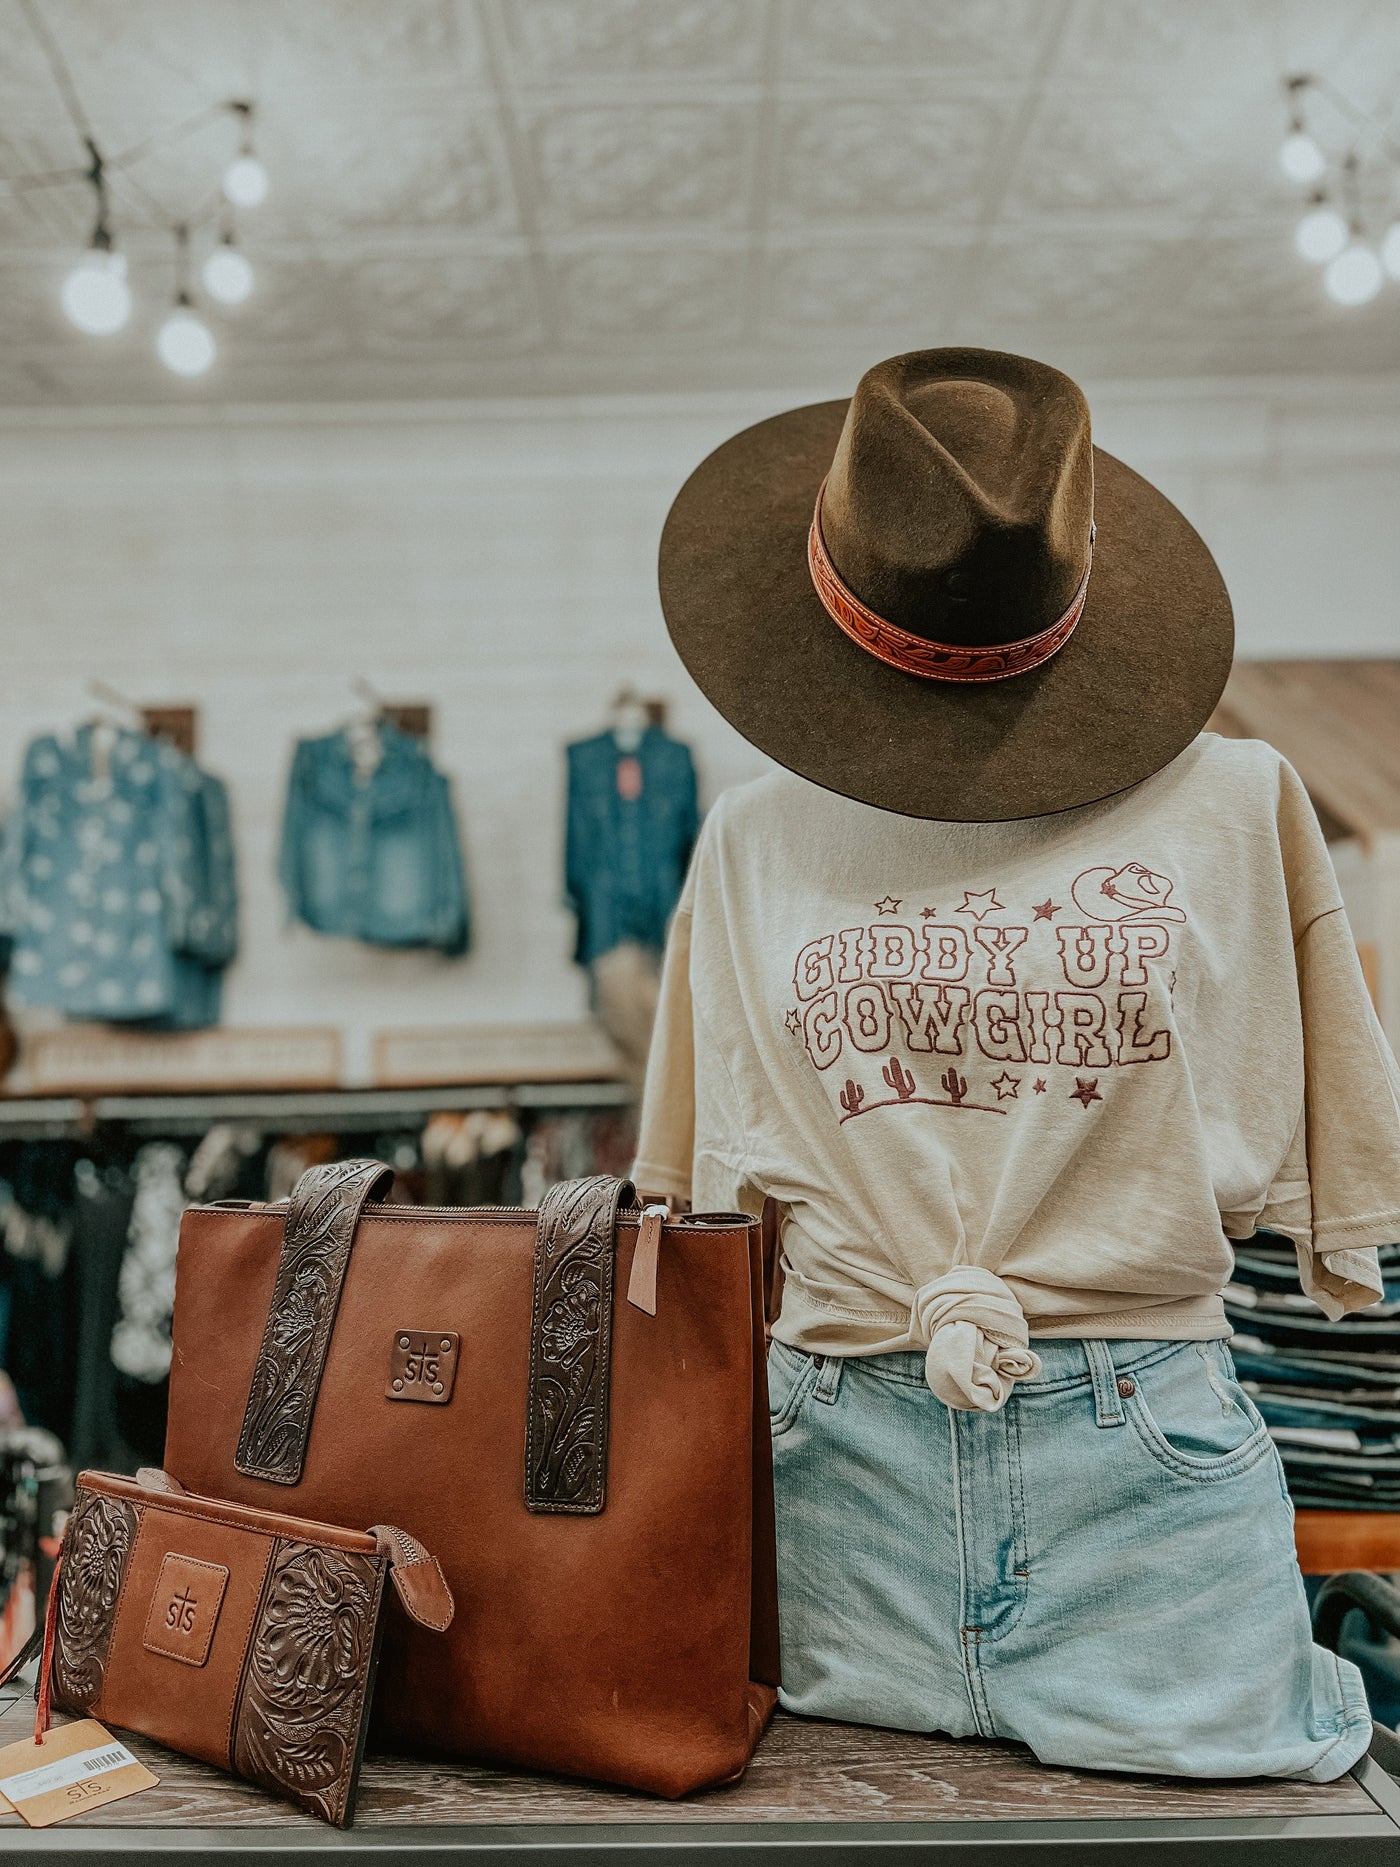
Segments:
[[[32,1729],[28,1695],[0,1742]],[[1370,1759],[1338,1783],[1183,1783],[1047,1770],[1002,1744],[920,1738],[778,1716],[749,1776],[687,1802],[480,1764],[368,1757],[357,1824],[336,1832],[273,1796],[125,1738],[159,1789],[58,1828],[0,1817],[0,1867],[86,1854],[119,1867],[274,1867],[327,1852],[388,1867],[700,1867],[862,1852],[930,1867],[1170,1861],[1172,1867],[1370,1867],[1400,1861],[1400,1789]]]

